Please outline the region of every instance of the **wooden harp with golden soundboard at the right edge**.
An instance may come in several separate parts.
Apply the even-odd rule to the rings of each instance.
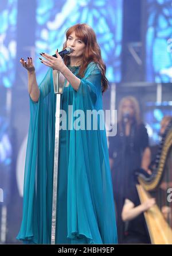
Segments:
[[[137,173],[139,185],[136,185],[140,202],[154,197],[156,203],[144,212],[152,244],[172,244],[172,121],[166,128],[159,145],[153,166],[153,173]],[[162,214],[167,210],[166,216]]]

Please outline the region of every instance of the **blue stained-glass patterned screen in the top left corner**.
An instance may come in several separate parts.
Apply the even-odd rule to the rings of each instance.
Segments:
[[[1,1],[0,86],[11,87],[15,77],[17,0]]]

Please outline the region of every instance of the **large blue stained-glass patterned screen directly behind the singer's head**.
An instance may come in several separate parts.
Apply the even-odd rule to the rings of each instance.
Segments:
[[[107,65],[110,82],[120,82],[122,51],[123,0],[37,0],[36,54],[62,49],[65,31],[77,23],[87,23],[95,30],[101,55]],[[37,60],[37,79],[42,79],[42,64]],[[46,69],[46,68],[45,68]]]

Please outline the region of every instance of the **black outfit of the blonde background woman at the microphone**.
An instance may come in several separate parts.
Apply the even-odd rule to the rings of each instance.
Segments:
[[[120,128],[121,127],[121,128]],[[130,135],[125,135],[125,125],[117,127],[117,135],[110,137],[109,155],[114,159],[111,169],[114,200],[116,204],[116,220],[118,229],[118,241],[123,242],[124,222],[121,213],[124,203],[124,196],[135,184],[134,172],[140,167],[142,153],[148,147],[147,129],[144,124],[131,125]]]

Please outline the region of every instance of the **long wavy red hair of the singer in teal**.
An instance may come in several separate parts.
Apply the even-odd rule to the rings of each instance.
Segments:
[[[106,66],[101,58],[101,50],[99,44],[97,43],[96,34],[91,26],[87,24],[76,24],[71,26],[66,32],[66,41],[63,45],[63,49],[67,47],[67,40],[69,35],[75,32],[76,37],[78,37],[85,44],[83,62],[80,67],[79,75],[84,77],[85,68],[90,62],[95,62],[98,64],[101,70],[101,90],[104,93],[108,89],[108,80],[105,77]],[[64,56],[64,63],[66,66],[70,64],[70,57],[68,55]]]

